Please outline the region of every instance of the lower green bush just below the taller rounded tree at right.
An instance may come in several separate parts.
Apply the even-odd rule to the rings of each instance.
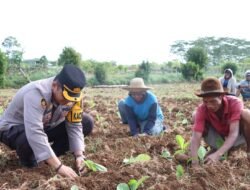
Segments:
[[[199,65],[194,62],[187,62],[186,64],[183,64],[181,66],[181,73],[187,80],[200,80],[203,75]]]

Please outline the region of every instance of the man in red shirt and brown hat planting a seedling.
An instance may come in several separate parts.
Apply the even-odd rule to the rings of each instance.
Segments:
[[[194,126],[191,138],[192,163],[198,163],[197,151],[202,137],[210,145],[213,153],[207,155],[205,162],[213,163],[230,148],[247,143],[247,156],[250,161],[250,111],[243,109],[243,102],[234,96],[226,96],[220,81],[207,78],[201,90],[195,93],[203,103],[194,113]],[[224,143],[217,147],[217,139]]]

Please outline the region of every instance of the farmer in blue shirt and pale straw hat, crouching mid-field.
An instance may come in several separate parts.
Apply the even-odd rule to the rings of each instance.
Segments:
[[[157,135],[163,131],[163,114],[156,96],[145,86],[142,78],[134,78],[123,89],[129,94],[118,109],[122,122],[128,124],[132,136]]]

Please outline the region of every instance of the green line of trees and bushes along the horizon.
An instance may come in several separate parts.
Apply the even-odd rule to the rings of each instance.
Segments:
[[[92,84],[105,84],[107,75],[117,72],[134,72],[133,76],[142,77],[146,82],[149,81],[152,72],[181,73],[186,80],[201,80],[204,72],[210,67],[220,66],[221,69],[229,67],[236,72],[238,67],[249,68],[250,66],[250,42],[225,37],[176,41],[171,45],[171,53],[179,58],[163,64],[142,61],[138,65],[117,65],[114,61],[82,60],[81,54],[71,47],[64,47],[56,61],[49,61],[45,55],[33,60],[23,60],[23,53],[23,48],[15,37],[9,36],[2,42],[0,49],[1,88],[9,86],[10,80],[14,80],[17,85],[27,83],[31,81],[31,74],[38,71],[52,75],[54,73],[48,71],[51,66],[60,67],[65,64],[74,64],[85,72],[93,74],[94,78],[90,81]],[[17,73],[22,75],[22,79],[15,79],[14,76]],[[35,79],[41,77],[40,72]]]

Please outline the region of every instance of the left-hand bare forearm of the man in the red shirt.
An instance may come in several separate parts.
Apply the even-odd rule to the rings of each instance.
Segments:
[[[194,131],[191,138],[191,158],[192,164],[198,164],[197,151],[201,143],[202,133]]]

